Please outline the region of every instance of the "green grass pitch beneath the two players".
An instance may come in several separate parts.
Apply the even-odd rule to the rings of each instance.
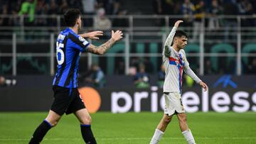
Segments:
[[[0,143],[28,143],[33,131],[47,113],[0,113]],[[92,114],[92,131],[99,144],[149,143],[163,113],[107,113]],[[256,143],[256,113],[188,113],[188,126],[198,144]],[[80,124],[75,116],[61,118],[42,143],[83,143]],[[159,144],[186,144],[172,119]]]

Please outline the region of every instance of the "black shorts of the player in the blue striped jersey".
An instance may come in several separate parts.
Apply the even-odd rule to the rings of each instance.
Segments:
[[[80,98],[78,89],[70,89],[65,87],[53,86],[54,101],[50,110],[58,113],[60,116],[63,113],[70,114],[85,108],[85,104]]]

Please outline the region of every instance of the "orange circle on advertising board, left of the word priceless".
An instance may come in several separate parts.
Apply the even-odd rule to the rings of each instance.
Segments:
[[[81,87],[78,89],[82,101],[89,113],[96,113],[100,109],[100,94],[92,87]]]

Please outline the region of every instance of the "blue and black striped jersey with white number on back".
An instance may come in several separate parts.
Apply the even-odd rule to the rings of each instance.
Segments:
[[[61,31],[56,43],[58,70],[53,85],[60,87],[78,87],[78,62],[81,52],[87,51],[90,43],[74,33],[70,28]]]

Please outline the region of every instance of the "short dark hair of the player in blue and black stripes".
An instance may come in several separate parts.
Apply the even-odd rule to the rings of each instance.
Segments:
[[[64,13],[64,21],[68,27],[75,26],[75,21],[81,16],[79,9],[68,9]]]

